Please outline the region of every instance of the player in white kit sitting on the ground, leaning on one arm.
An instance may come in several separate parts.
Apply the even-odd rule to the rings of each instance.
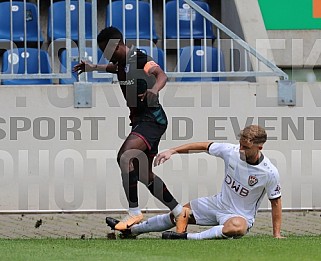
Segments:
[[[191,200],[184,207],[186,218],[175,224],[171,213],[154,216],[134,225],[123,234],[139,235],[165,231],[176,225],[176,232],[166,231],[163,239],[240,238],[253,226],[255,215],[265,194],[272,206],[273,236],[282,238],[281,186],[277,168],[261,152],[267,140],[265,130],[250,125],[240,133],[238,145],[196,142],[158,154],[154,165],[164,163],[176,153],[208,152],[225,163],[222,190],[214,196]],[[106,220],[107,221],[107,220]],[[107,222],[108,223],[108,222]],[[200,233],[186,233],[188,224],[213,226]]]

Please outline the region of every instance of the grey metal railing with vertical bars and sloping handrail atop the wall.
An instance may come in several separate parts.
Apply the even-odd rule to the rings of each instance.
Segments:
[[[24,0],[24,2],[26,3],[26,0]],[[71,11],[70,11],[70,2],[71,0],[66,0],[66,39],[64,41],[66,49],[67,49],[67,64],[71,64],[72,60],[71,60],[71,55],[70,55],[70,49],[72,46],[74,46],[76,43],[73,43],[73,41],[71,40],[71,34],[70,31],[68,30],[68,28],[70,29],[72,26],[72,22],[71,22]],[[112,1],[106,1],[107,4],[111,4]],[[126,5],[126,0],[122,0],[121,1],[123,5]],[[137,16],[137,14],[139,14],[140,9],[138,8],[138,2],[139,1],[132,1],[131,3],[136,3],[137,8],[136,8],[136,30],[139,31],[140,25],[139,25],[139,17]],[[50,1],[51,6],[53,4],[53,1]],[[79,48],[79,53],[80,53],[80,58],[84,59],[85,57],[85,48],[86,46],[88,46],[88,43],[86,43],[86,41],[88,41],[88,39],[86,39],[85,37],[85,21],[84,19],[81,19],[82,16],[85,15],[85,1],[81,0],[78,1],[79,3],[79,39],[78,39],[78,43],[77,46]],[[190,7],[190,10],[188,10],[188,12],[186,12],[185,14],[188,17],[190,17],[190,34],[193,35],[194,33],[194,29],[193,29],[193,16],[195,15],[194,13],[198,13],[203,17],[203,30],[204,30],[204,38],[202,39],[202,43],[203,43],[203,47],[205,52],[207,52],[207,46],[211,47],[211,46],[215,46],[217,48],[217,71],[211,71],[211,68],[208,68],[207,66],[207,53],[205,53],[205,57],[204,57],[204,62],[205,62],[205,66],[204,66],[204,71],[202,72],[197,72],[194,71],[194,67],[193,65],[191,65],[191,72],[185,72],[183,70],[180,70],[181,67],[181,57],[179,55],[179,50],[176,50],[177,53],[175,54],[175,56],[177,56],[177,64],[176,64],[176,68],[173,70],[172,68],[169,68],[170,66],[168,66],[168,61],[171,61],[170,54],[167,50],[169,50],[169,48],[173,47],[176,49],[180,49],[184,43],[186,45],[190,45],[190,46],[194,46],[194,39],[191,36],[189,39],[184,39],[186,42],[184,42],[183,39],[180,38],[180,28],[179,28],[179,14],[177,14],[177,20],[176,20],[176,25],[173,25],[176,27],[177,30],[177,39],[172,40],[174,41],[174,45],[170,46],[170,40],[166,39],[166,20],[169,19],[170,17],[167,17],[166,12],[165,12],[165,8],[166,8],[166,0],[163,0],[162,4],[161,4],[161,8],[163,9],[163,13],[159,13],[162,14],[162,18],[161,18],[161,22],[162,22],[162,34],[163,37],[159,37],[159,41],[157,42],[157,44],[155,45],[153,43],[153,13],[157,12],[156,8],[157,8],[157,4],[160,4],[157,1],[153,1],[153,0],[149,0],[149,4],[150,4],[150,10],[149,10],[149,16],[150,16],[150,39],[149,39],[149,46],[150,49],[152,50],[152,47],[159,47],[159,48],[163,48],[164,49],[164,71],[166,72],[166,74],[168,75],[169,78],[181,78],[181,77],[228,77],[229,79],[233,79],[235,77],[242,77],[242,78],[247,78],[247,77],[267,77],[267,76],[271,76],[271,77],[280,77],[283,78],[285,80],[288,79],[288,75],[283,72],[280,68],[278,68],[273,62],[271,62],[270,60],[268,60],[267,58],[265,58],[262,54],[260,54],[255,48],[253,48],[252,46],[250,46],[247,42],[245,42],[243,39],[241,39],[238,35],[236,35],[235,33],[233,33],[229,28],[227,28],[226,26],[224,26],[222,23],[220,23],[218,20],[216,20],[212,15],[210,15],[207,11],[205,11],[204,9],[202,9],[197,3],[195,3],[195,1],[192,0],[184,0],[184,3],[187,4]],[[37,0],[37,10],[38,10],[38,17],[37,17],[37,21],[38,24],[40,23],[40,0]],[[93,62],[97,63],[99,62],[97,59],[97,42],[95,41],[96,37],[97,37],[97,31],[98,31],[98,26],[97,26],[97,21],[99,19],[97,19],[98,16],[98,12],[97,12],[97,0],[92,0],[91,1],[92,4],[92,36],[93,39],[90,40],[90,44],[93,48]],[[156,8],[154,8],[156,6]],[[12,6],[11,6],[12,8]],[[51,12],[52,7],[51,8]],[[154,9],[153,9],[154,8]],[[178,10],[179,8],[179,1],[176,2],[176,8]],[[25,8],[24,8],[25,9]],[[41,9],[42,10],[42,9]],[[26,20],[26,10],[24,10],[24,20]],[[110,9],[110,12],[112,12],[112,10]],[[179,13],[179,11],[177,12]],[[125,8],[123,8],[123,31],[126,32],[126,28],[125,28]],[[106,15],[111,15],[110,14],[106,14]],[[13,14],[10,14],[10,19],[12,21],[12,16]],[[160,16],[158,16],[160,17]],[[51,24],[53,24],[53,18],[51,18],[51,21],[48,21]],[[159,21],[158,21],[159,22]],[[111,21],[112,23],[112,21]],[[209,42],[207,41],[207,27],[208,24],[210,24],[213,28],[216,28],[216,40],[214,42],[214,44],[212,43],[209,44]],[[53,31],[53,25],[49,25],[51,26],[51,31]],[[37,42],[37,48],[40,48],[40,34],[41,34],[41,25],[38,25],[38,42]],[[14,47],[16,47],[15,43],[13,43],[13,39],[12,39],[12,35],[13,35],[13,28],[11,25],[10,28],[11,31],[11,40],[9,40],[10,42],[10,47],[9,49],[13,49]],[[26,34],[27,34],[27,28],[26,28],[26,24],[24,25],[24,31],[25,31],[25,37],[24,37],[24,46],[27,45],[26,43]],[[159,33],[159,32],[158,32]],[[229,37],[228,40],[226,39],[221,39],[221,35],[222,33],[224,33],[226,36]],[[160,33],[159,33],[160,34]],[[139,46],[139,43],[141,40],[144,39],[140,39],[139,38],[139,33],[137,33],[136,35],[138,35],[138,39],[136,39],[136,45]],[[55,44],[55,41],[53,39],[53,32],[51,33],[52,38],[52,43],[50,44],[50,47],[52,47]],[[163,39],[162,39],[163,38]],[[182,41],[183,40],[183,41]],[[146,41],[146,40],[145,40]],[[226,49],[226,45],[225,43],[229,44],[229,48],[230,48],[230,52],[231,52],[231,58],[230,58],[230,68],[229,70],[225,70],[224,68],[222,68],[221,65],[221,59],[223,59],[224,57],[224,47]],[[242,50],[240,50],[240,53],[243,57],[242,60],[242,70],[237,70],[235,68],[235,60],[234,60],[234,47],[240,47],[242,48]],[[48,50],[48,53],[50,55],[50,61],[52,64],[52,72],[51,73],[46,73],[46,74],[41,74],[41,72],[39,71],[38,73],[23,73],[23,74],[17,74],[17,73],[0,73],[0,79],[61,79],[61,78],[70,78],[71,77],[71,68],[70,66],[67,66],[67,70],[66,72],[62,73],[62,72],[57,72],[54,70],[54,68],[57,68],[57,66],[60,65],[60,61],[57,58],[57,50],[54,50],[54,48],[51,48],[50,51]],[[191,55],[191,53],[189,54],[191,56],[191,63],[193,64],[193,56]],[[151,56],[153,56],[153,52],[151,52]],[[249,57],[254,57],[256,60],[254,59],[249,59]],[[11,56],[11,69],[13,69],[13,57]],[[225,58],[226,59],[226,58]],[[250,63],[250,61],[252,61],[252,64]],[[38,62],[40,63],[40,59],[38,59]],[[57,65],[57,63],[59,65]],[[253,64],[255,63],[255,64]],[[268,70],[260,70],[261,69],[261,65],[264,65],[268,68]],[[258,65],[258,66],[256,66]],[[111,78],[111,74],[107,74],[107,73],[94,73],[93,77],[100,77],[100,78]],[[79,81],[87,81],[85,76],[79,77],[78,79]]]

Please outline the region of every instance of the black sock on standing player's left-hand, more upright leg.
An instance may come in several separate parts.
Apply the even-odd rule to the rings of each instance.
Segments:
[[[138,207],[138,196],[137,196],[137,182],[138,173],[133,170],[129,173],[122,173],[123,187],[125,190],[128,206],[130,208]]]

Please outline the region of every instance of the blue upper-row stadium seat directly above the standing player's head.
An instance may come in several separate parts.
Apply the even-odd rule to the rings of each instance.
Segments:
[[[152,35],[150,35],[150,5],[147,2],[138,2],[139,10],[139,35],[136,33],[136,1],[126,0],[125,2],[125,39],[158,39],[155,31],[154,20],[152,17]],[[110,11],[112,10],[112,16]],[[112,2],[107,6],[106,26],[117,27],[123,32],[123,1]]]

